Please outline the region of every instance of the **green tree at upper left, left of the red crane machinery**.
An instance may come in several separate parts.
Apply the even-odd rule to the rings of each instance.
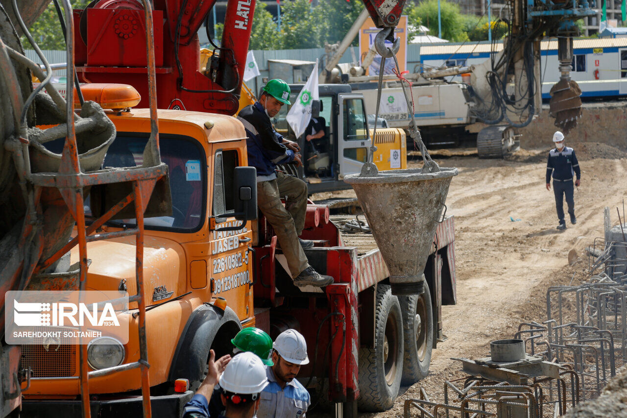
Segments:
[[[89,2],[90,0],[70,0],[74,9],[83,9]],[[63,6],[61,6],[61,10],[63,10]],[[63,31],[61,31],[61,24],[54,3],[48,4],[48,8],[34,21],[29,31],[42,50],[65,50],[65,38],[63,38]],[[26,36],[22,36],[21,41],[24,49],[33,49]]]

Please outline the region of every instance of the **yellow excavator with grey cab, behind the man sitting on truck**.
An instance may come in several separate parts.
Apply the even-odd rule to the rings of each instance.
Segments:
[[[200,71],[206,72],[213,51],[203,48],[201,50]],[[292,94],[290,101],[295,103],[303,84],[290,85]],[[293,164],[283,164],[280,169],[290,175],[301,178],[307,183],[307,191],[310,195],[325,191],[345,190],[350,185],[342,179],[347,174],[359,173],[362,164],[367,160],[368,148],[374,144],[376,149],[372,151],[372,161],[378,169],[405,169],[407,168],[407,141],[406,133],[399,128],[382,128],[376,132],[369,129],[365,123],[366,101],[361,94],[353,94],[347,85],[321,84],[318,88],[319,100],[316,100],[315,111],[312,117],[319,118],[324,125],[324,136],[318,139],[317,146],[307,144],[303,137],[297,138],[285,117],[291,109],[291,105],[285,105],[272,119],[277,132],[292,141],[298,142],[301,149],[305,150],[305,163],[297,167]],[[240,107],[238,112],[247,105],[256,102],[255,93],[248,88],[246,83],[241,85]],[[353,114],[349,118],[339,117],[340,109],[344,111],[345,105],[351,105]],[[356,122],[359,125],[355,133],[365,135],[364,141],[350,140],[349,123]],[[368,132],[366,133],[366,129]],[[352,202],[352,204],[350,203]],[[330,203],[327,201],[327,203]],[[332,210],[342,206],[345,211],[357,211],[358,205],[354,199],[332,200]]]

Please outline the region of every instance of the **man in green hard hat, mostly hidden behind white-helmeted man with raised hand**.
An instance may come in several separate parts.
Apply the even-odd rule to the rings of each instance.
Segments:
[[[266,366],[272,366],[272,338],[265,331],[255,328],[253,326],[244,328],[231,340],[233,344],[233,358],[250,351],[261,358]],[[224,412],[224,404],[222,403],[222,395],[224,390],[220,385],[216,385],[209,399],[209,414],[212,417],[217,417]]]

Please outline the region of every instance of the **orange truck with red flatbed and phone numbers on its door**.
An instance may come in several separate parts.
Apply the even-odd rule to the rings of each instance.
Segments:
[[[149,110],[107,114],[117,137],[103,167],[141,164],[150,134]],[[363,410],[391,407],[401,380],[415,382],[428,372],[431,349],[442,338],[441,306],[455,303],[453,218],[446,218],[436,232],[425,269],[426,292],[397,297],[391,294],[389,273],[372,236],[344,235],[339,225],[347,218],[329,217],[327,208],[309,205],[302,237],[314,240],[315,247],[306,253],[310,264],[333,276],[335,283],[325,289],[298,289],[282,267],[284,257],[271,227],[257,216],[256,178],[248,175],[254,169],[246,168],[241,123],[226,115],[184,110],[158,110],[157,115],[172,214],[147,213],[144,221],[152,415],[180,414],[203,379],[209,349],[218,356],[230,353],[231,338],[244,326],[257,326],[273,338],[287,328],[303,333],[312,362],[299,378],[309,383],[314,398],[344,404],[353,412],[357,405]],[[92,192],[85,203],[88,222],[90,215],[107,210],[102,201]],[[95,233],[135,227],[132,215],[120,217]],[[89,242],[87,251],[87,290],[134,294],[134,238]],[[71,257],[76,260],[78,251]],[[92,372],[139,359],[137,305],[130,303],[117,316],[129,323],[129,341],[102,336],[110,338],[106,344],[90,344]],[[24,416],[79,415],[78,346],[59,340],[21,350],[21,367],[33,373],[24,392]],[[176,392],[179,378],[189,380],[187,390]],[[142,414],[139,370],[90,376],[88,387],[93,416]]]

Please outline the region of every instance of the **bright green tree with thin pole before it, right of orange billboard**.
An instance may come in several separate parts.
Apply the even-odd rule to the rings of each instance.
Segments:
[[[421,21],[429,28],[429,34],[438,36],[438,0],[426,0],[418,6],[411,8],[409,21]],[[468,35],[463,29],[460,6],[446,0],[440,0],[440,15],[442,26],[442,38],[461,42],[468,40]]]

